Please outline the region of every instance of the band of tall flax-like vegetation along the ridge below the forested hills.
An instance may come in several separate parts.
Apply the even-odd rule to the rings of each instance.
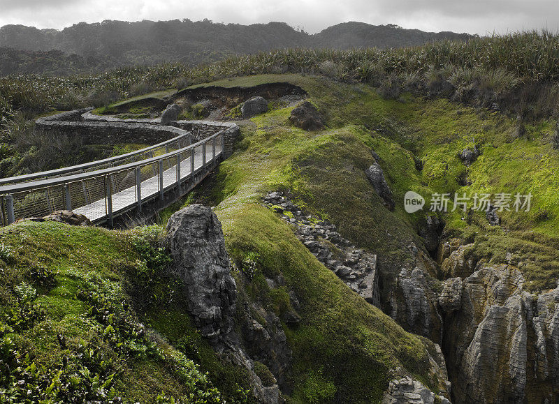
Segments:
[[[183,63],[135,66],[101,75],[11,75],[0,78],[1,98],[31,112],[103,106],[155,89],[182,89],[223,77],[312,73],[342,82],[382,87],[397,98],[402,89],[463,103],[491,106],[523,117],[542,116],[556,105],[559,36],[547,31],[450,40],[380,50],[274,50],[189,68]],[[5,112],[3,112],[5,114]]]

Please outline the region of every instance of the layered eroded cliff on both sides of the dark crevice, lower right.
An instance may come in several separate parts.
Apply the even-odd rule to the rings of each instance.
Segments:
[[[441,343],[453,402],[556,402],[559,287],[530,293],[514,262],[475,262],[472,245],[458,239],[440,245],[437,264],[413,247],[415,265],[384,285],[385,311],[405,329]],[[445,279],[440,283],[437,266]],[[402,381],[391,389],[396,397],[430,400],[413,385]]]

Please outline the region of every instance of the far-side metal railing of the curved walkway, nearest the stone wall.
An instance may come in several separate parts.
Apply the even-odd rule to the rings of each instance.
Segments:
[[[135,163],[140,160],[159,156],[160,154],[166,154],[169,151],[181,149],[182,147],[186,147],[191,143],[191,133],[185,132],[183,135],[178,135],[177,137],[173,137],[173,139],[166,140],[165,142],[154,144],[153,146],[145,147],[144,149],[131,151],[130,153],[121,154],[119,156],[104,158],[103,160],[96,160],[80,165],[72,165],[70,167],[59,168],[57,170],[34,172],[32,174],[24,174],[17,177],[0,178],[0,186],[5,184],[17,184],[20,182],[34,181],[37,179],[66,177],[72,174],[79,174],[82,172],[101,170],[103,168],[116,167],[117,165]]]

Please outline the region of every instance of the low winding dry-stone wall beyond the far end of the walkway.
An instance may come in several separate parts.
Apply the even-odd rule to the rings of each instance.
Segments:
[[[219,130],[224,133],[224,157],[233,152],[239,127],[231,122],[175,121],[169,126],[160,119],[119,119],[91,113],[92,108],[62,112],[37,119],[35,130],[48,135],[80,136],[88,144],[146,143],[157,144],[187,132],[192,142],[210,137]]]

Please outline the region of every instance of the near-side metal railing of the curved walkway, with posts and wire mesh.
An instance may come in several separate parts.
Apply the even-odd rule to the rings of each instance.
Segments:
[[[57,210],[84,214],[94,223],[112,219],[176,189],[222,156],[224,130],[200,142],[145,160],[91,172],[0,186],[0,224]]]

